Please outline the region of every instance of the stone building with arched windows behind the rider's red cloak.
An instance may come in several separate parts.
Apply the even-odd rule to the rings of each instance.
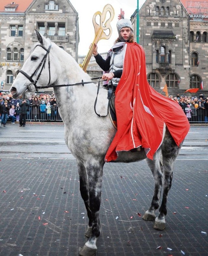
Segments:
[[[135,35],[136,18],[137,10],[131,17]],[[167,84],[174,96],[203,84],[208,96],[207,32],[206,1],[147,0],[139,10],[139,44],[149,84],[159,92]]]

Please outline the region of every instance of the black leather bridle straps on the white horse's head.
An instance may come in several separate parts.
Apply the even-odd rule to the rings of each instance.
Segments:
[[[26,76],[27,79],[30,80],[31,84],[34,85],[34,87],[35,87],[34,90],[32,90],[32,89],[30,88],[30,85],[31,85],[31,84],[28,85],[28,88],[27,88],[27,89],[30,90],[30,91],[35,91],[35,90],[37,91],[37,86],[36,86],[36,84],[37,84],[37,82],[38,82],[38,80],[39,80],[39,78],[40,78],[40,75],[41,75],[41,73],[42,73],[42,71],[43,71],[43,68],[45,68],[45,62],[46,62],[47,56],[48,56],[48,70],[49,70],[49,82],[48,82],[48,85],[50,84],[50,80],[51,80],[50,58],[49,58],[49,52],[50,52],[50,49],[51,49],[51,44],[49,45],[48,49],[46,49],[43,45],[40,45],[40,44],[36,45],[35,48],[36,48],[37,46],[42,47],[42,48],[46,51],[46,54],[44,55],[43,59],[41,60],[40,64],[39,64],[38,67],[36,68],[36,70],[32,73],[31,76],[29,76],[29,75],[28,75],[27,73],[25,73],[24,71],[19,70],[19,72],[20,72],[21,74],[23,74],[24,76]],[[32,79],[32,77],[37,74],[37,72],[38,72],[38,70],[40,69],[41,66],[42,66],[42,68],[41,68],[41,70],[40,70],[40,73],[38,74],[37,79],[34,81],[34,80]]]

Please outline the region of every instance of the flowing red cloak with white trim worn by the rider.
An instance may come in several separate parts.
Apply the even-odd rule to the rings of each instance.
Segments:
[[[123,73],[115,91],[117,132],[105,161],[116,160],[117,152],[142,146],[153,159],[167,126],[177,146],[186,137],[190,124],[181,106],[156,92],[148,83],[145,54],[135,43],[126,43]]]

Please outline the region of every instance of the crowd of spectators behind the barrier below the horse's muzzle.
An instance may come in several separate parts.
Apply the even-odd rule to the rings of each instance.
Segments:
[[[24,116],[25,109],[27,117]],[[34,95],[27,100],[21,97],[13,99],[10,93],[0,93],[0,120],[4,127],[8,120],[11,120],[12,124],[15,124],[16,121],[19,122],[20,126],[25,126],[26,118],[50,121],[51,115],[56,120],[57,114],[58,106],[54,92],[51,94],[41,93],[40,95]]]

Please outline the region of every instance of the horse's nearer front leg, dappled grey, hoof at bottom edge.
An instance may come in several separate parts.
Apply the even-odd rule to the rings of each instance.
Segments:
[[[96,241],[100,235],[99,209],[101,201],[101,185],[104,161],[90,160],[86,162],[85,168],[89,188],[89,228],[91,236],[80,251],[81,256],[95,256],[97,251]]]

